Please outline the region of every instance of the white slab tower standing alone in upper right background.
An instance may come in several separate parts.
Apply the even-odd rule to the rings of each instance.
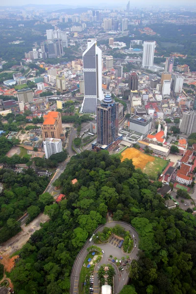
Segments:
[[[149,69],[154,62],[155,41],[144,41],[142,68]]]

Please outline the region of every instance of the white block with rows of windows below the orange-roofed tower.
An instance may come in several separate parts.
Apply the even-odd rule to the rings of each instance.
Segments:
[[[47,159],[52,154],[56,154],[63,151],[61,139],[47,138],[43,143]]]

